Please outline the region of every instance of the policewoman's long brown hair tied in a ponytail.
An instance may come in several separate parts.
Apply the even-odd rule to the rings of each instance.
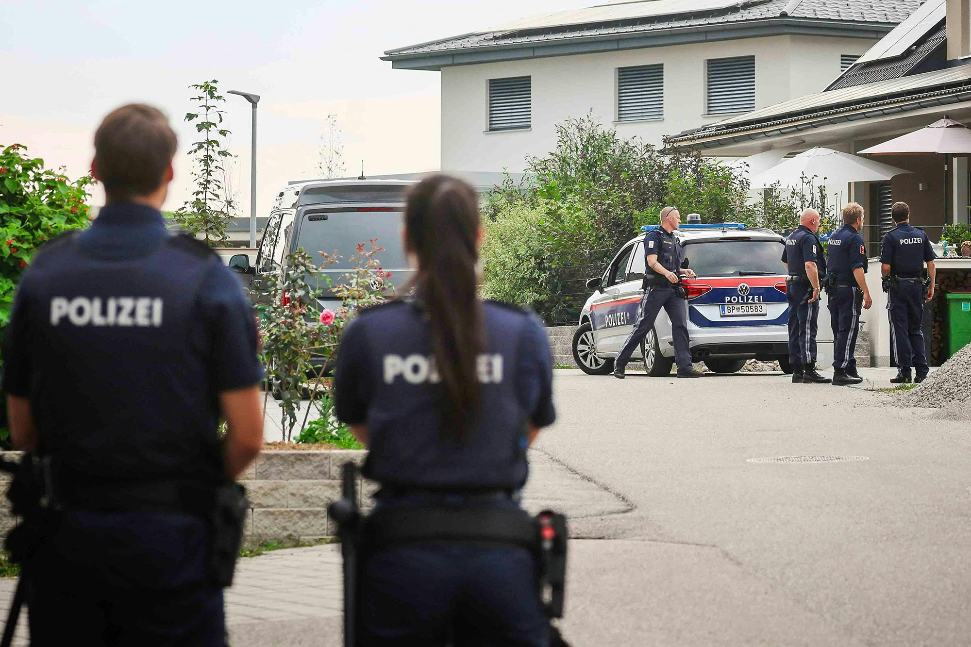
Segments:
[[[442,436],[467,440],[480,411],[477,359],[485,348],[478,295],[479,202],[455,178],[434,175],[408,195],[405,237],[419,269],[409,284],[424,304],[435,365],[442,379]]]

